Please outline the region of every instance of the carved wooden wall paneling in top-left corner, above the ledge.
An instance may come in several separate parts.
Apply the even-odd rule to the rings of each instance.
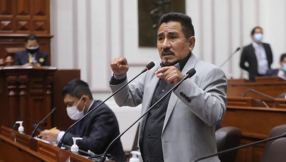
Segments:
[[[0,33],[50,33],[50,0],[0,0]]]

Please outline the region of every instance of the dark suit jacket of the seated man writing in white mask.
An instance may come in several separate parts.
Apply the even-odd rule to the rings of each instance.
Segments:
[[[101,102],[95,100],[88,111],[95,108]],[[95,154],[103,154],[109,143],[117,135],[119,135],[117,119],[112,110],[103,104],[66,134],[64,144],[72,146],[72,137],[82,137],[82,140],[76,141],[79,149],[84,151],[90,150]],[[110,147],[107,153],[116,158],[116,162],[126,162],[120,139]]]

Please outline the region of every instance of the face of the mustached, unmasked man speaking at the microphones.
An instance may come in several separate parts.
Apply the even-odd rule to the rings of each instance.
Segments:
[[[195,45],[195,37],[187,39],[179,22],[162,23],[158,29],[157,48],[164,66],[171,66],[185,58]]]

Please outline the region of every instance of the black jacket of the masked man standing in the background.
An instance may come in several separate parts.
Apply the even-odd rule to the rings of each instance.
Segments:
[[[265,49],[266,57],[268,60],[268,66],[270,68],[273,61],[272,51],[269,44],[267,43],[262,43],[262,44]],[[245,62],[248,62],[249,66],[245,66]],[[240,57],[240,67],[249,72],[249,79],[251,81],[254,81],[255,77],[259,75],[257,70],[257,65],[258,65],[257,58],[252,44],[244,47]]]

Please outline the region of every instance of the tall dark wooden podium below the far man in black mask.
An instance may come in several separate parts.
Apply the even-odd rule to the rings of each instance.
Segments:
[[[40,121],[51,111],[55,67],[0,67],[0,125],[12,128],[19,117]],[[23,120],[26,134],[33,131],[31,120]],[[47,118],[51,128],[51,117]]]

